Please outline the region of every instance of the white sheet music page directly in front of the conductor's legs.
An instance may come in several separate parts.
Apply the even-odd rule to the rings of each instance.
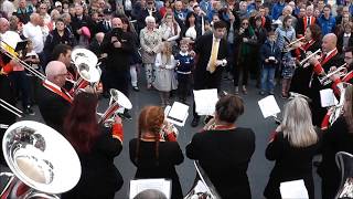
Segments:
[[[218,102],[217,90],[194,90],[193,92],[196,105],[196,113],[199,115],[213,115],[215,112],[215,105]]]

